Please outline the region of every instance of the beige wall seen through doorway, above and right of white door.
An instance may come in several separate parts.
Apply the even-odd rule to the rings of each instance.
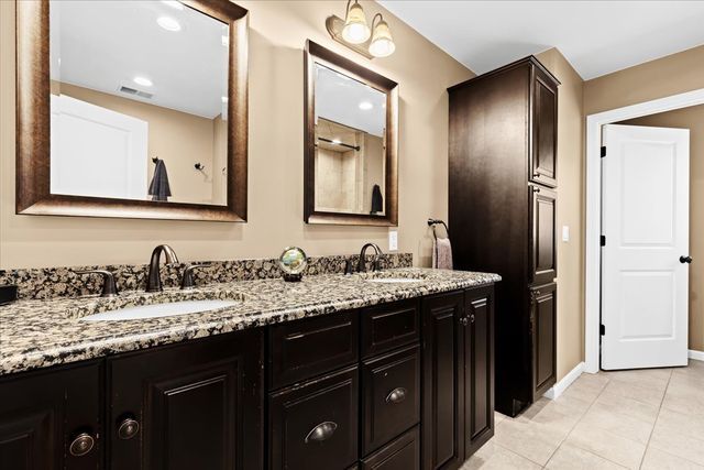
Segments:
[[[704,105],[619,122],[690,129],[690,254],[704,260]],[[690,349],[704,350],[704,263],[690,265]]]

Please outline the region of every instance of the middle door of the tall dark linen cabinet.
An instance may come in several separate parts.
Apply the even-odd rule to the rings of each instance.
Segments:
[[[558,274],[556,255],[557,194],[550,189],[531,186],[532,240],[531,284],[549,284]]]

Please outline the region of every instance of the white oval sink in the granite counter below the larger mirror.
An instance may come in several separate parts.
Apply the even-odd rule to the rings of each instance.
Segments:
[[[118,308],[82,317],[81,321],[140,320],[147,318],[173,317],[176,315],[201,314],[239,304],[240,300],[208,299],[182,300],[164,304],[141,305],[139,307]]]

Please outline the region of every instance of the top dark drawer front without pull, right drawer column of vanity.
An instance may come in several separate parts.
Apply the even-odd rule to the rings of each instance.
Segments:
[[[418,341],[420,321],[416,299],[362,310],[362,356],[369,358]]]

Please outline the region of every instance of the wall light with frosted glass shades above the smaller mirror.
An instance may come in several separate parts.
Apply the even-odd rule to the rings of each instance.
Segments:
[[[354,0],[354,3],[348,0],[344,20],[336,15],[328,17],[326,28],[333,40],[366,58],[387,57],[396,50],[392,31],[382,13],[374,15],[370,29],[359,0]]]

